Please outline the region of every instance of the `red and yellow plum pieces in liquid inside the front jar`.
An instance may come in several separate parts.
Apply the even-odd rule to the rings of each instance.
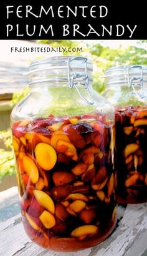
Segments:
[[[13,125],[22,219],[32,240],[78,250],[110,234],[116,222],[113,132],[97,115]]]

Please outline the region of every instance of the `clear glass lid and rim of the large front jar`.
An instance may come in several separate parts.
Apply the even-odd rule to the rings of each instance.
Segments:
[[[92,61],[80,56],[54,56],[37,59],[31,62],[29,67],[30,82],[57,82],[68,81],[75,77],[77,81],[88,76],[92,80]]]

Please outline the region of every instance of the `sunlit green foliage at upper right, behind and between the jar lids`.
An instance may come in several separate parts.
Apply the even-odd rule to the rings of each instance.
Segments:
[[[87,46],[88,57],[93,60],[93,87],[98,92],[103,92],[105,83],[103,76],[105,70],[113,66],[126,66],[126,65],[147,65],[147,41],[138,41],[136,46],[123,46],[118,48],[111,48],[102,46],[95,41],[93,44]]]

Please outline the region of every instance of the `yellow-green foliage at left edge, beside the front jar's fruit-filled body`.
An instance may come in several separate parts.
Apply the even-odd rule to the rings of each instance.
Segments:
[[[10,129],[0,132],[0,141],[7,149],[0,149],[0,180],[2,180],[5,175],[12,175],[16,173]]]

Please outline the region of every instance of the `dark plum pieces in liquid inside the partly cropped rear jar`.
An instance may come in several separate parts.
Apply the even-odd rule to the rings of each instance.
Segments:
[[[147,202],[147,109],[116,107],[118,202]]]

